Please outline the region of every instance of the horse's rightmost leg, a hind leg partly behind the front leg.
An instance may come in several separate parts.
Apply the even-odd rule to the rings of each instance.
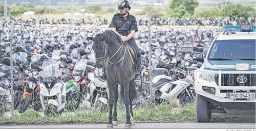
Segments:
[[[133,120],[133,111],[132,111],[132,101],[134,99],[134,92],[136,93],[135,91],[135,82],[134,80],[131,80],[130,81],[130,85],[129,85],[129,100],[130,100],[130,122],[131,122],[131,125],[134,126],[135,123],[134,123],[134,120]]]

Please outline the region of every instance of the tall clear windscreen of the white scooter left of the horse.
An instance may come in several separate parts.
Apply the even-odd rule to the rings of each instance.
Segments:
[[[62,72],[59,69],[59,64],[57,60],[54,59],[45,59],[43,61],[43,70],[39,73],[41,82],[57,82],[61,80]]]

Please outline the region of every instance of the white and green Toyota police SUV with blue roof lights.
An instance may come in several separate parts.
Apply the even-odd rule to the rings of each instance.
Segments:
[[[210,122],[212,112],[255,110],[256,98],[256,26],[224,26],[211,42],[203,62],[194,73],[196,116],[198,122]]]

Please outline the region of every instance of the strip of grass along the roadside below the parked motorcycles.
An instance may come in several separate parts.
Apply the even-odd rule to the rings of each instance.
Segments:
[[[171,112],[173,108],[180,107],[177,102],[161,105],[145,105],[143,108],[133,110],[135,122],[195,122],[195,103],[187,104],[181,107],[179,113]],[[118,121],[126,121],[126,112],[118,108]],[[0,116],[0,125],[8,123],[106,123],[108,120],[108,112],[94,114],[79,113],[66,115],[42,116],[39,112],[28,110],[23,114],[17,114],[13,117]]]

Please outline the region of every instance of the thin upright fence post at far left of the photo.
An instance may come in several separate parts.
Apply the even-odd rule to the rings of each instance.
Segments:
[[[12,95],[12,103],[11,103],[11,112],[12,112],[12,116],[14,115],[14,91],[13,91],[13,59],[12,59],[12,40],[13,40],[13,28],[14,28],[14,24],[12,23],[12,27],[11,27],[11,33],[10,33],[10,57],[11,57],[11,95]]]

